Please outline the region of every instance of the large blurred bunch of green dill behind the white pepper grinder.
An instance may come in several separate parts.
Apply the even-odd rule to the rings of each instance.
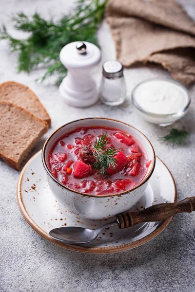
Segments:
[[[48,76],[56,76],[59,85],[67,69],[59,60],[60,50],[73,41],[89,41],[98,45],[96,33],[100,24],[107,0],[78,0],[77,6],[59,21],[45,20],[39,13],[28,17],[18,13],[12,17],[16,30],[26,32],[29,37],[16,39],[4,25],[0,29],[0,39],[7,39],[11,52],[17,51],[18,71],[29,73],[33,69],[47,68],[41,81]]]

